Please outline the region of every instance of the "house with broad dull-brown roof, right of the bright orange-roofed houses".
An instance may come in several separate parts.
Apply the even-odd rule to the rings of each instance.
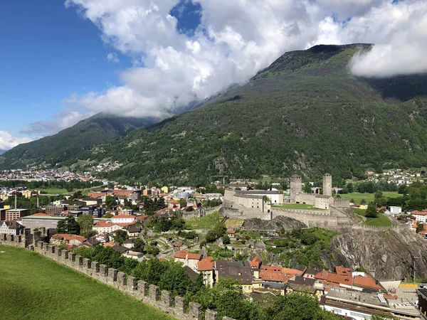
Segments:
[[[248,261],[218,260],[215,262],[215,277],[236,280],[243,293],[253,292],[253,273]]]

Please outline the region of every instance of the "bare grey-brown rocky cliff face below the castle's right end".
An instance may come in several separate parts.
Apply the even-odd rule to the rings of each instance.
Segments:
[[[332,270],[334,265],[363,267],[379,280],[411,279],[416,257],[416,277],[427,278],[427,240],[411,230],[343,228],[338,232],[331,245],[334,261],[325,257]]]

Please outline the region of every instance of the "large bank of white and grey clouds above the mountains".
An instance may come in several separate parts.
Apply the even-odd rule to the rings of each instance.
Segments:
[[[357,75],[415,73],[427,63],[415,63],[427,53],[426,1],[194,2],[201,5],[201,26],[189,37],[176,31],[169,15],[178,0],[67,0],[100,28],[105,43],[140,62],[122,72],[122,86],[73,97],[73,105],[162,116],[245,82],[288,50],[320,43],[377,43],[353,61]]]

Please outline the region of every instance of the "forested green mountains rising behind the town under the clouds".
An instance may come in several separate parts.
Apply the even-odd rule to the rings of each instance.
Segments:
[[[366,169],[425,166],[427,75],[352,75],[350,59],[369,48],[315,46],[285,53],[245,85],[194,110],[134,125],[131,132],[103,141],[95,141],[105,135],[97,129],[90,134],[94,141],[84,146],[83,133],[75,129],[79,123],[69,129],[75,136],[60,132],[7,151],[0,168],[58,164],[88,170],[114,159],[122,166],[105,172],[107,178],[204,183],[216,175],[314,177],[330,172],[352,178]],[[61,149],[70,139],[74,147]]]

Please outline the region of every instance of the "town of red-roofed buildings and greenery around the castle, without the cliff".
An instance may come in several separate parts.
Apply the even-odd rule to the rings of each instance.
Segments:
[[[384,176],[396,179],[394,172]],[[26,175],[17,177],[22,180]],[[80,176],[81,181],[86,178]],[[409,174],[409,178],[399,178],[395,183],[406,188],[418,183],[425,192],[421,171],[419,175]],[[95,190],[48,196],[46,201],[51,202],[45,201],[43,206],[38,203],[41,191],[24,186],[5,188],[0,202],[0,233],[4,237],[31,234],[58,250],[90,258],[99,247],[115,259],[122,257],[115,265],[117,269],[126,263],[132,265],[127,269],[129,275],[135,274],[138,263],[172,260],[182,265],[189,279],[201,277],[209,288],[221,279],[233,280],[248,301],[302,292],[315,297],[323,309],[352,319],[372,315],[423,319],[427,292],[423,282],[415,280],[427,280],[416,274],[416,267],[411,270],[412,277],[378,280],[374,270],[365,270],[362,265],[352,270],[325,265],[320,259],[339,228],[362,228],[367,219],[386,219],[390,226],[378,228],[410,230],[427,242],[427,206],[422,202],[421,207],[418,201],[412,208],[410,196],[404,203],[400,198],[405,195],[386,198],[378,190],[370,202],[369,193],[361,193],[358,201],[342,198],[346,195],[342,190],[347,188],[348,192],[351,183],[344,188],[333,187],[328,174],[320,184],[302,183],[300,176],[292,176],[289,186],[271,183],[267,190],[255,189],[257,183],[241,179],[223,182],[196,187],[134,187],[112,186],[106,181]],[[379,181],[371,181],[369,176],[367,182],[360,183]],[[16,208],[23,199],[36,199],[36,208]],[[284,218],[294,224],[265,228],[265,223]],[[250,223],[256,219],[265,223],[254,228]],[[322,241],[325,247],[319,249],[317,244]],[[304,257],[307,248],[320,250],[318,256]]]

